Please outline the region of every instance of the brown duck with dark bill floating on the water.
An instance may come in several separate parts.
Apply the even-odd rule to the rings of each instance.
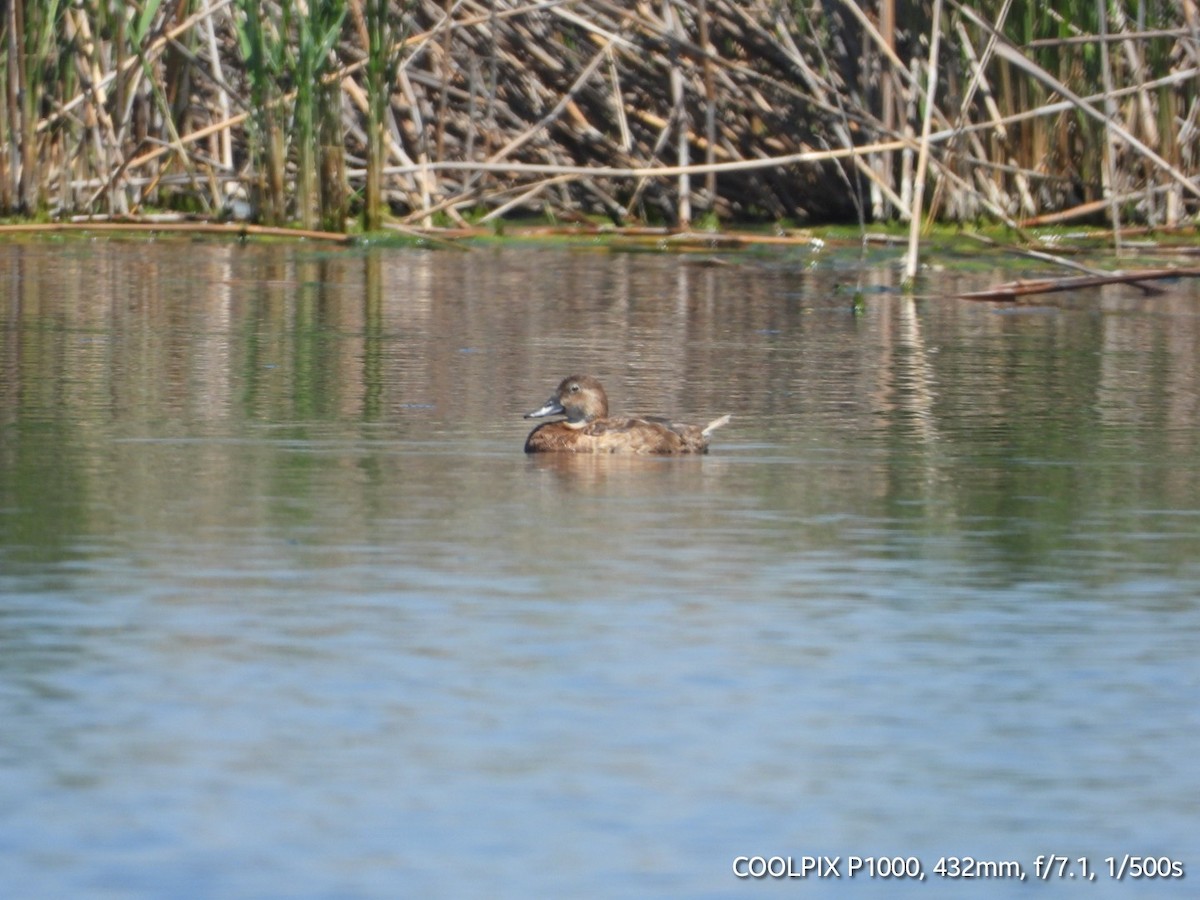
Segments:
[[[730,421],[722,415],[701,428],[658,416],[610,416],[604,385],[587,374],[564,378],[550,400],[524,418],[548,415],[566,418],[529,432],[527,454],[707,454],[709,436]]]

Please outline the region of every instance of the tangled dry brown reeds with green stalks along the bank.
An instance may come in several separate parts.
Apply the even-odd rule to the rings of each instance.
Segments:
[[[0,214],[1188,222],[1195,0],[1049,7],[12,0]]]

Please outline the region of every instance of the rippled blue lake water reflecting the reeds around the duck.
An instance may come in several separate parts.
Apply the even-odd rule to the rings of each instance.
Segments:
[[[1200,290],[898,256],[0,244],[0,893],[1194,896]]]

